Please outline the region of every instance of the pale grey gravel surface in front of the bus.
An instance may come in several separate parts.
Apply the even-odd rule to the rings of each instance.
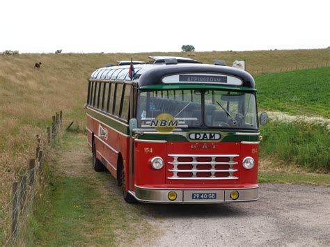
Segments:
[[[330,188],[263,184],[257,202],[136,206],[162,234],[139,245],[330,245]]]

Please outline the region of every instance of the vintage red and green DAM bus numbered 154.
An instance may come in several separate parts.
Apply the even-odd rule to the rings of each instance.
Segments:
[[[258,200],[258,112],[248,72],[223,63],[152,56],[95,70],[87,138],[96,171],[127,202]],[[260,123],[267,113],[260,115]]]

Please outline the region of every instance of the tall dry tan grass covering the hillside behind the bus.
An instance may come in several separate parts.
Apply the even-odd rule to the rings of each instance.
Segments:
[[[288,51],[213,51],[191,56],[203,63],[246,60],[249,72],[294,70],[330,65],[330,49]],[[11,182],[34,155],[36,134],[55,111],[84,128],[86,82],[93,70],[118,60],[149,61],[148,56],[187,56],[182,52],[142,54],[21,54],[0,56],[0,209],[10,198]],[[41,62],[40,70],[34,69]]]

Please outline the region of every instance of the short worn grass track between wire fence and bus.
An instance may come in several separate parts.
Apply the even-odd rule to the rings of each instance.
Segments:
[[[58,154],[74,155],[77,150],[89,154],[82,134],[67,134],[59,146]],[[139,207],[123,200],[109,173],[93,172],[91,160],[83,159],[81,166],[88,166],[91,173],[65,175],[58,164],[60,155],[52,161],[49,185],[29,219],[28,246],[118,246],[152,232]]]

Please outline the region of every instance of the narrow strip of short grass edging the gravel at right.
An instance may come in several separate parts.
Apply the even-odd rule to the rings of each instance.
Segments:
[[[308,184],[315,186],[330,186],[329,174],[315,173],[278,173],[278,172],[259,172],[260,183],[278,184]]]

